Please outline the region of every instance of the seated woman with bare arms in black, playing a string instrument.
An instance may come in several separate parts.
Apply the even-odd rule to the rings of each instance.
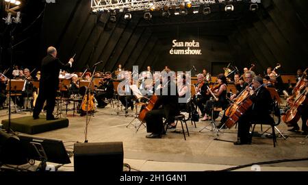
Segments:
[[[224,74],[219,74],[217,77],[217,84],[216,86],[213,86],[211,88],[211,90],[213,91],[212,93],[214,93],[214,95],[218,98],[217,101],[215,101],[214,99],[209,99],[207,100],[206,104],[205,104],[205,115],[203,116],[203,119],[201,119],[201,121],[207,121],[209,120],[209,115],[211,115],[211,108],[214,107],[221,107],[222,110],[224,110],[227,105],[228,105],[228,101],[227,101],[227,77],[224,76]],[[207,94],[209,94],[209,90],[207,90]],[[217,115],[214,115],[217,116]],[[211,118],[214,119],[214,118]]]

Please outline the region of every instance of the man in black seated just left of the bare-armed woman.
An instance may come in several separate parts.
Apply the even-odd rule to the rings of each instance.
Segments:
[[[198,83],[195,84],[196,88],[195,102],[196,106],[198,106],[199,110],[201,111],[201,116],[204,116],[205,115],[204,106],[207,100],[209,99],[209,95],[207,95],[207,86],[209,84],[205,83],[205,77],[201,73],[197,75],[197,80]]]

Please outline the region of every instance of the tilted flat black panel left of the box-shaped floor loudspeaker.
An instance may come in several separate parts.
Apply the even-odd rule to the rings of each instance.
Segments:
[[[40,160],[37,171],[45,171],[46,162],[69,164],[70,158],[62,140],[19,135],[27,159]],[[62,166],[62,165],[61,165]],[[60,166],[60,167],[61,167]],[[56,169],[57,170],[57,167]]]

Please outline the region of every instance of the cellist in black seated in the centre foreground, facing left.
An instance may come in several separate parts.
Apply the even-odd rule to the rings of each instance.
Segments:
[[[163,74],[162,78],[162,93],[158,96],[155,108],[146,112],[146,132],[151,132],[151,134],[146,135],[146,138],[162,138],[162,132],[164,132],[163,117],[168,125],[174,127],[175,116],[179,114],[176,84],[169,75]],[[173,90],[175,92],[172,92]]]

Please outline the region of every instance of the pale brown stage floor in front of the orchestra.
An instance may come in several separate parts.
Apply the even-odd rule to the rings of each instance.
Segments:
[[[68,108],[73,108],[73,103],[69,104]],[[131,171],[216,171],[256,162],[292,160],[308,156],[308,139],[305,140],[305,144],[300,144],[305,136],[287,131],[290,127],[283,122],[277,128],[287,139],[278,137],[276,147],[273,147],[272,138],[265,136],[253,137],[252,145],[235,146],[232,143],[237,139],[235,127],[231,130],[221,130],[221,140],[214,140],[214,132],[199,132],[209,125],[209,121],[196,122],[196,128],[188,122],[190,136],[186,135],[187,140],[184,140],[183,134],[171,132],[172,130],[168,130],[162,138],[146,138],[146,128],[143,125],[138,132],[135,125],[139,125],[139,122],[129,125],[136,111],[129,110],[129,116],[125,116],[124,113],[119,110],[117,114],[116,109],[110,105],[97,109],[94,116],[90,116],[87,139],[89,143],[123,142],[124,162],[130,165]],[[30,114],[31,112],[12,114],[12,118]],[[86,116],[76,113],[73,116],[73,110],[68,110],[65,114],[64,110],[62,117],[69,119],[68,127],[31,136],[63,140],[66,149],[73,151],[74,143],[83,143],[85,140]],[[0,110],[0,119],[8,119],[8,109]],[[217,123],[218,121],[219,119]],[[301,120],[299,125],[301,127]],[[264,125],[263,130],[267,127]],[[180,125],[176,130],[181,130]],[[261,133],[259,125],[256,126],[255,132]],[[60,167],[59,171],[73,171],[73,157],[70,160],[72,164]],[[38,165],[38,162],[36,164]],[[263,164],[260,167],[261,171],[308,171],[308,160]],[[248,165],[235,171],[252,169],[253,167]]]

